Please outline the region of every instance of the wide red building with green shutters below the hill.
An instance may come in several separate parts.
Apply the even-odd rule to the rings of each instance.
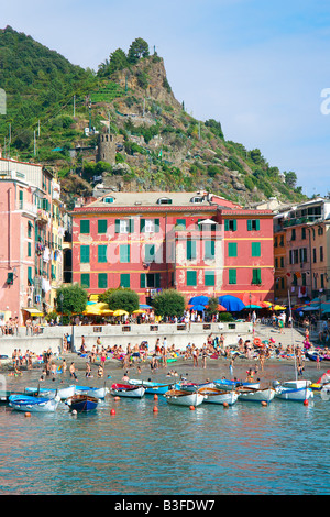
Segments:
[[[273,212],[207,193],[111,193],[73,211],[73,282],[273,301]]]

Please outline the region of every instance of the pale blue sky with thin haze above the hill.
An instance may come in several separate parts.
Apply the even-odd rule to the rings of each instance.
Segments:
[[[0,0],[0,28],[98,69],[142,37],[176,99],[226,140],[330,191],[329,0]],[[0,76],[1,87],[1,76]]]

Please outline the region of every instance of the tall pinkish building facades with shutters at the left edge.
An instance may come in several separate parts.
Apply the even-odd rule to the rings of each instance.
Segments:
[[[62,283],[64,206],[53,173],[38,164],[0,158],[0,317],[51,310]]]

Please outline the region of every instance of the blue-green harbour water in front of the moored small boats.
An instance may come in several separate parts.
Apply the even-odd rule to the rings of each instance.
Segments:
[[[218,366],[177,366],[193,381],[219,378]],[[224,366],[228,367],[227,365]],[[246,364],[242,364],[242,374]],[[309,363],[305,377],[326,371]],[[106,370],[107,371],[107,370]],[[265,366],[264,380],[295,378],[292,365]],[[122,370],[78,384],[111,386]],[[150,371],[131,377],[150,378]],[[8,389],[36,386],[40,371],[8,375]],[[165,372],[154,381],[169,382]],[[170,382],[174,380],[172,378]],[[72,384],[67,375],[42,387]],[[157,413],[154,411],[157,407]],[[116,415],[111,415],[114,409]],[[113,413],[113,411],[112,411]],[[274,399],[267,406],[238,400],[233,406],[175,407],[158,396],[114,400],[73,415],[61,403],[54,414],[0,406],[1,495],[204,496],[329,495],[330,400],[315,394],[308,405]],[[129,501],[129,499],[127,499]]]

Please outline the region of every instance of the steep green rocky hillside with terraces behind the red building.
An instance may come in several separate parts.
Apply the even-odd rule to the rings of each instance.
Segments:
[[[0,70],[2,155],[53,167],[68,198],[90,194],[95,175],[120,169],[125,189],[205,189],[243,205],[304,199],[294,172],[271,166],[258,148],[227,141],[220,121],[189,116],[163,59],[150,55],[142,38],[128,52],[112,52],[96,73],[8,26],[0,31]],[[96,163],[98,133],[109,131],[109,120],[123,146],[114,163]],[[73,154],[77,146],[90,152]]]

